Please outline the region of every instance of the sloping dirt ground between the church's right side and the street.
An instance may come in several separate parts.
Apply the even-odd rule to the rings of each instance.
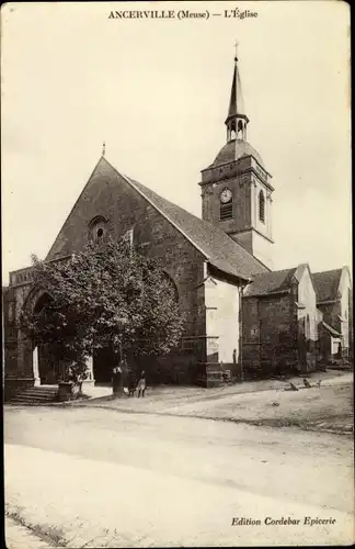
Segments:
[[[351,436],[353,372],[322,379],[321,386],[317,385],[314,378],[310,380],[310,389],[305,388],[302,379],[295,380],[295,385],[299,388],[296,392],[287,391],[289,382],[265,380],[205,390],[152,389],[148,390],[145,399],[95,399],[68,405],[242,422],[256,426],[297,426]]]

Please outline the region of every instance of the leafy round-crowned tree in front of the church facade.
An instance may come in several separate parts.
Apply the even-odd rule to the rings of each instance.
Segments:
[[[110,346],[119,360],[127,352],[167,355],[183,332],[172,280],[157,259],[127,243],[88,244],[58,261],[33,257],[34,281],[48,299],[22,314],[22,326],[37,343],[50,344],[57,358],[84,373],[84,358]]]

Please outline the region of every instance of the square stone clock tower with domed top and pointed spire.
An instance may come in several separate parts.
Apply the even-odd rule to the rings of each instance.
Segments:
[[[230,92],[227,144],[215,161],[202,170],[202,216],[270,269],[272,262],[272,176],[247,141],[249,117],[243,107],[236,52]]]

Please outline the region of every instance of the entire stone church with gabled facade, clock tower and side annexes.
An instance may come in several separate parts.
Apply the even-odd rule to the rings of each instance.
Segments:
[[[110,235],[127,237],[137,250],[160,260],[186,323],[179,348],[139,365],[157,382],[213,386],[225,370],[248,377],[271,374],[279,365],[314,369],[321,359],[320,326],[329,339],[342,341],[343,352],[351,345],[346,269],[340,269],[334,295],[325,300],[325,273],[312,276],[308,265],[273,271],[274,187],[247,139],[249,117],[241,97],[236,57],[227,142],[198,183],[202,219],[121,173],[103,155],[45,259],[66,260],[89,240]],[[336,313],[328,298],[337,300]],[[19,327],[21,311],[38,310],[45,300],[31,267],[10,273],[3,289],[5,395],[58,380],[48,349],[34,347]],[[107,355],[94,354],[89,380],[110,382],[112,366]]]

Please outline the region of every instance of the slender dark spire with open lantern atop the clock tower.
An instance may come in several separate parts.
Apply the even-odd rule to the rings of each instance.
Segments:
[[[247,124],[249,119],[244,111],[243,97],[241,91],[240,72],[238,68],[238,54],[236,42],[233,80],[230,91],[228,116],[226,119],[227,143],[232,139],[247,141]]]

